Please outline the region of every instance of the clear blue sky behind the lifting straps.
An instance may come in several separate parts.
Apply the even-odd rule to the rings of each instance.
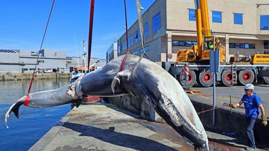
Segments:
[[[141,0],[145,9],[155,0]],[[53,0],[1,1],[0,49],[39,50]],[[127,23],[137,20],[135,0],[126,0]],[[142,10],[144,13],[145,10]],[[55,0],[42,49],[66,50],[67,56],[82,53],[88,41],[90,0]],[[123,0],[95,0],[92,57],[105,52],[125,29]],[[88,48],[88,46],[87,46]]]

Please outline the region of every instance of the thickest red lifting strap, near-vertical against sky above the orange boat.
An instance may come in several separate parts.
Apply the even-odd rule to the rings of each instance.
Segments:
[[[90,3],[89,43],[88,43],[88,71],[89,71],[89,66],[90,66],[92,27],[93,27],[93,22],[94,22],[93,18],[94,18],[94,0],[91,0],[91,3]]]

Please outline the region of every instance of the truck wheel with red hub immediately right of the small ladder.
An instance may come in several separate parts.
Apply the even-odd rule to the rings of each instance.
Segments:
[[[240,70],[238,77],[237,77],[237,82],[240,85],[246,85],[249,83],[252,83],[254,81],[254,72],[252,70]]]

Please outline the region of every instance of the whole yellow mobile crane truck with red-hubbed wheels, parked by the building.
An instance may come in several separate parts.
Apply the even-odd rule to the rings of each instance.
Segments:
[[[162,63],[163,68],[174,75],[182,86],[187,84],[191,87],[195,81],[202,87],[212,85],[213,75],[209,70],[209,60],[210,51],[216,49],[220,52],[220,66],[219,73],[216,73],[216,81],[223,86],[245,85],[255,81],[269,84],[269,55],[255,54],[240,59],[237,52],[234,53],[234,60],[227,63],[225,62],[225,46],[219,42],[219,38],[210,29],[207,0],[195,0],[195,18],[197,45],[193,44],[191,49],[179,49],[177,62]],[[177,70],[182,63],[189,65],[189,76],[180,75]]]

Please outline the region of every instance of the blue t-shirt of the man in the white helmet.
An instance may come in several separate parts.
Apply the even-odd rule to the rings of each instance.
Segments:
[[[251,96],[243,95],[242,99],[245,106],[245,116],[246,117],[258,117],[260,113],[259,106],[262,102],[260,97],[256,94]]]

